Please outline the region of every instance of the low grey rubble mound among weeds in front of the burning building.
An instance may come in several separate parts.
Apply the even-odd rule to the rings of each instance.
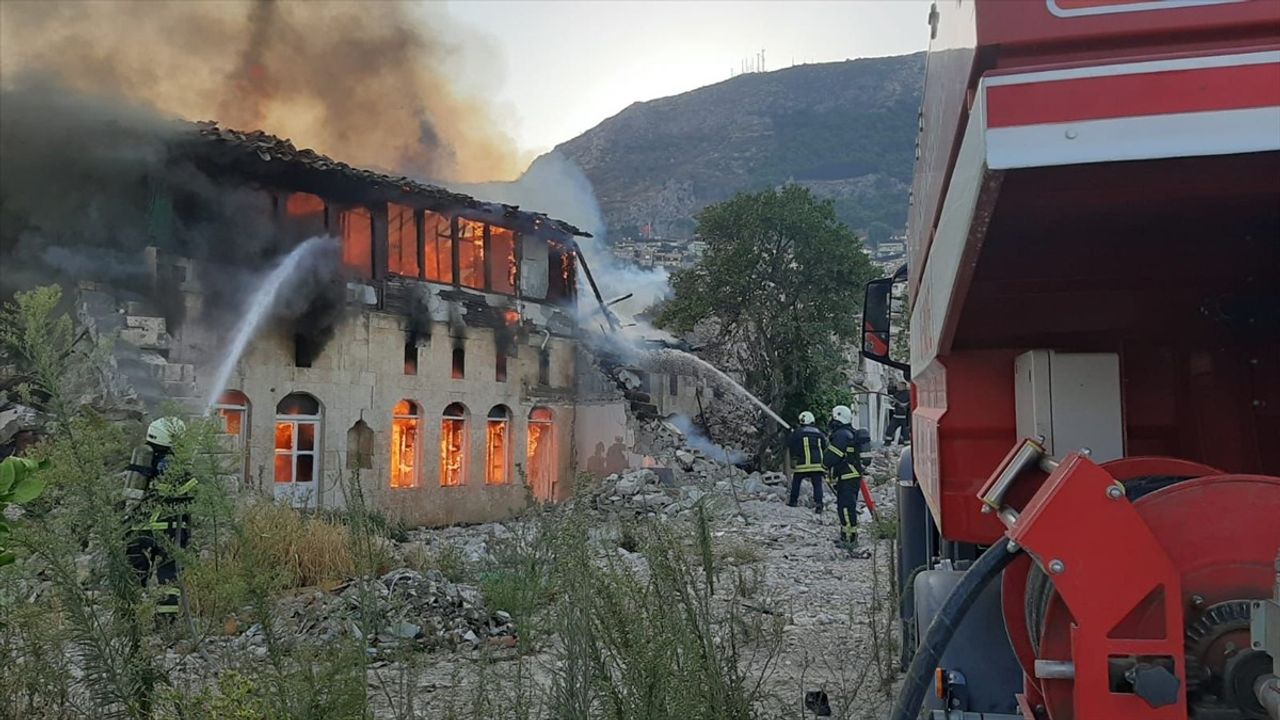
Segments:
[[[344,634],[365,639],[371,655],[417,646],[422,650],[513,647],[516,626],[509,614],[490,612],[480,591],[452,583],[436,570],[392,570],[367,583],[351,582],[333,592],[311,589],[279,603],[283,626],[294,635],[329,642]],[[370,623],[365,623],[365,621]],[[364,638],[362,626],[376,628]],[[244,630],[233,644],[265,655],[260,625]]]

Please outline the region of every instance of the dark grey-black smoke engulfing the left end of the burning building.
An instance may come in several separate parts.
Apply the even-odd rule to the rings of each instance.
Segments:
[[[186,307],[179,281],[146,252],[201,261],[204,318],[232,325],[260,269],[284,250],[270,199],[220,184],[170,143],[192,128],[115,99],[23,79],[0,91],[0,297],[56,282],[96,282],[151,301],[170,328]],[[339,259],[298,288],[284,316],[323,342],[343,306]]]

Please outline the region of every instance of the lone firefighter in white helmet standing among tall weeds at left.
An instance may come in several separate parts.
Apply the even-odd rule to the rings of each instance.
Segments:
[[[133,451],[124,479],[124,507],[129,519],[127,555],[129,565],[146,585],[155,573],[161,588],[159,615],[177,615],[182,591],[178,588],[178,560],[174,548],[186,548],[189,539],[188,505],[196,492],[196,479],[168,473],[174,441],[186,423],[160,418],[147,427],[146,445]]]

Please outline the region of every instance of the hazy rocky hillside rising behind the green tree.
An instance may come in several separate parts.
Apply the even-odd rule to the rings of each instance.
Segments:
[[[787,181],[879,240],[906,223],[924,55],[799,65],[636,102],[556,150],[611,237],[689,236],[710,202]]]

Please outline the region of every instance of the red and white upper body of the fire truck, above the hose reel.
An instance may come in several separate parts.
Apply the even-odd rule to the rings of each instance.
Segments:
[[[1280,473],[1280,3],[941,3],[908,228],[915,471],[946,539],[1015,357],[1120,359],[1129,456]]]

